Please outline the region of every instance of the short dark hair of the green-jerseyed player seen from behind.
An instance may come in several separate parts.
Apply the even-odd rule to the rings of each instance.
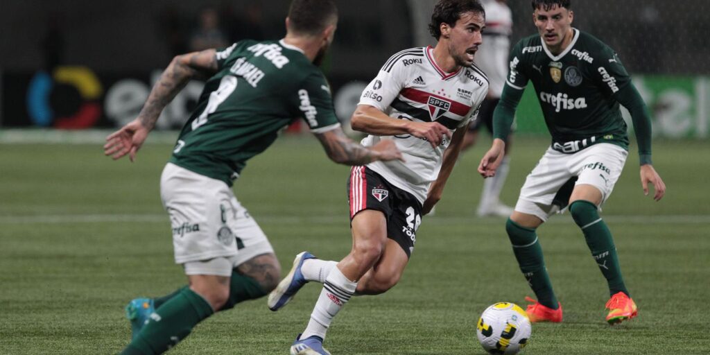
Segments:
[[[293,0],[288,9],[290,30],[306,35],[323,31],[338,16],[332,0]]]

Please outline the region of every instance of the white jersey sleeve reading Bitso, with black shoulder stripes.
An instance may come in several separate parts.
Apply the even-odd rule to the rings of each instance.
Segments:
[[[362,92],[359,104],[385,111],[404,88],[404,77],[405,66],[401,62],[385,64]]]

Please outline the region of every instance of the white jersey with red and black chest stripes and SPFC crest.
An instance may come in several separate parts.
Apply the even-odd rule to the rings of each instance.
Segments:
[[[393,55],[364,90],[359,104],[370,105],[395,119],[436,121],[450,131],[475,119],[488,92],[488,78],[478,67],[461,67],[447,73],[434,60],[431,47],[403,50]],[[437,148],[410,136],[367,136],[361,142],[373,146],[391,139],[402,152],[404,162],[377,161],[367,165],[388,182],[424,202],[431,183],[441,169],[445,139]]]

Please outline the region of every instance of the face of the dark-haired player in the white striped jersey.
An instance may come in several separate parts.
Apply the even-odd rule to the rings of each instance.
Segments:
[[[449,54],[457,66],[469,67],[474,63],[474,55],[483,43],[483,31],[486,18],[480,12],[462,13],[454,27],[444,23],[442,35],[449,39]]]

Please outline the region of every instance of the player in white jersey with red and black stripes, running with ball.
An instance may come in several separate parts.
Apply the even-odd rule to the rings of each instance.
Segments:
[[[404,161],[351,170],[349,202],[353,247],[339,263],[300,253],[270,296],[278,310],[307,281],[324,288],[291,354],[327,354],[322,339],[334,315],[355,293],[376,295],[400,279],[414,249],[422,215],[442,196],[466,133],[488,92],[474,65],[485,12],[477,0],[440,0],[430,31],[435,48],[393,55],[362,94],[353,129],[374,146],[393,141]]]

